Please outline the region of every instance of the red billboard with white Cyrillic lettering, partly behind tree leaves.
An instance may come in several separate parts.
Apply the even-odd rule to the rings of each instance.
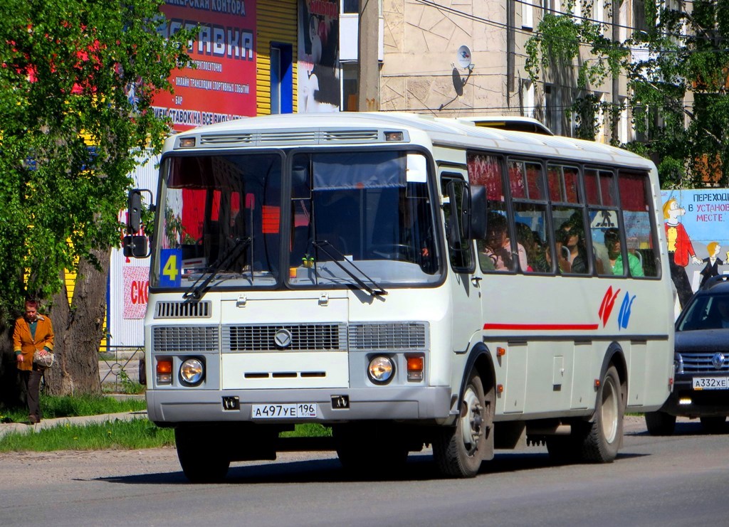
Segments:
[[[191,66],[174,70],[174,95],[155,97],[155,114],[177,131],[256,115],[256,1],[166,0],[166,36],[200,26],[188,53]],[[194,67],[192,67],[194,66]]]

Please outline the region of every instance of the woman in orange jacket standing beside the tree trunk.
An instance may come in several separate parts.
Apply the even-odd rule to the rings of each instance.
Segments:
[[[53,325],[50,318],[38,313],[37,301],[27,300],[25,314],[15,320],[12,347],[20,379],[26,388],[28,420],[36,424],[41,422],[39,393],[44,368],[33,362],[33,354],[38,350],[44,355],[53,349]]]

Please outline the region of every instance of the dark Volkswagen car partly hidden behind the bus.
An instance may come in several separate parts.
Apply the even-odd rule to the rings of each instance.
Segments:
[[[651,435],[670,435],[677,416],[701,419],[723,432],[729,416],[729,277],[707,280],[676,320],[674,389],[657,412],[645,414]]]

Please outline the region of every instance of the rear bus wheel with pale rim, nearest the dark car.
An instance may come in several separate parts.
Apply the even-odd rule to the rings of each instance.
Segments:
[[[623,401],[620,377],[615,366],[607,368],[598,389],[593,421],[577,431],[582,459],[593,463],[609,463],[617,457],[623,439]],[[581,437],[580,437],[581,436]]]

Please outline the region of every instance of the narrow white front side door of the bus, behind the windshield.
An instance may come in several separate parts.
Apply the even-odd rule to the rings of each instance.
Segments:
[[[453,170],[440,173],[443,193],[443,217],[448,254],[448,283],[451,288],[451,320],[453,351],[465,353],[472,337],[480,334],[481,274],[477,270],[474,243],[467,239],[464,226],[464,205],[468,197],[465,171]]]

